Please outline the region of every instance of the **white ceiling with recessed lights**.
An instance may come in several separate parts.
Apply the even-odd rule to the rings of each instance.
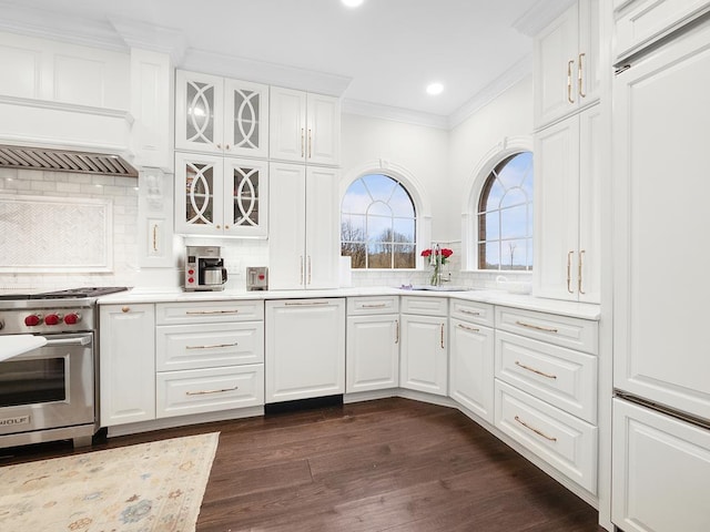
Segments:
[[[95,37],[105,44],[104,33],[121,32],[129,21],[158,28],[154,34],[180,43],[178,66],[204,64],[203,71],[225,74],[234,62],[239,71],[251,65],[273,84],[276,72],[298,72],[301,85],[327,80],[327,92],[353,108],[450,122],[530,72],[530,35],[567,4],[364,0],[353,9],[341,0],[10,0],[0,8],[14,23],[0,29],[58,35],[64,25],[65,34],[84,33],[84,41]],[[253,81],[263,81],[258,76]],[[434,81],[445,88],[437,96],[425,92]]]

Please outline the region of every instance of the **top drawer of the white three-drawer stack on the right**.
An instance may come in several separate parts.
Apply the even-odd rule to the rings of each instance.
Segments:
[[[598,324],[556,314],[496,307],[496,328],[597,355]]]

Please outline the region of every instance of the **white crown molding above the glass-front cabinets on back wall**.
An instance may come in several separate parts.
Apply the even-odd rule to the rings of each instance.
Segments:
[[[180,66],[225,78],[248,80],[255,83],[284,86],[298,91],[342,96],[352,78],[313,70],[297,69],[277,63],[254,61],[235,55],[189,49]]]

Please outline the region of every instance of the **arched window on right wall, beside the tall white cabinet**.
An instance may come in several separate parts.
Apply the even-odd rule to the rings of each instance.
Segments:
[[[532,269],[532,154],[509,155],[478,196],[478,268]]]

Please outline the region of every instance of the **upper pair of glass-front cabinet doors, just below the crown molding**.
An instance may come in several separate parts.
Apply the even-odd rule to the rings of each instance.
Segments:
[[[176,71],[175,149],[268,156],[268,85]]]

